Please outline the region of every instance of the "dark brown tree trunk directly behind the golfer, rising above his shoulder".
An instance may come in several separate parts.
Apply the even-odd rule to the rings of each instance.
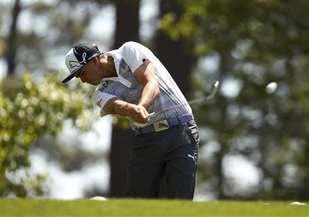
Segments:
[[[116,30],[113,49],[126,41],[139,42],[139,0],[115,1]],[[110,167],[111,178],[109,196],[126,196],[127,165],[130,155],[129,139],[133,137],[131,129],[113,126]]]

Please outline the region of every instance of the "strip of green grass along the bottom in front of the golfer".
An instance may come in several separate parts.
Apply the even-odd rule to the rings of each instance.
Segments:
[[[1,217],[6,216],[309,216],[306,206],[288,202],[239,202],[108,199],[108,201],[57,201],[1,198]]]

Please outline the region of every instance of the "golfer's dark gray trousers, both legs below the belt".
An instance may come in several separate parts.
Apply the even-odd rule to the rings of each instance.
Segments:
[[[128,164],[131,198],[157,198],[165,175],[168,198],[192,200],[198,158],[198,130],[192,120],[159,132],[137,135]]]

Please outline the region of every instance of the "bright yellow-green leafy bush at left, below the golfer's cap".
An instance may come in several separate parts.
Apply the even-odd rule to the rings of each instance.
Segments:
[[[72,119],[81,130],[88,129],[93,104],[87,100],[86,87],[76,83],[67,89],[58,82],[60,76],[34,81],[27,74],[19,87],[6,85],[16,80],[2,81],[0,195],[41,195],[46,190],[45,175],[28,170],[30,147],[44,135],[59,133],[64,119]]]

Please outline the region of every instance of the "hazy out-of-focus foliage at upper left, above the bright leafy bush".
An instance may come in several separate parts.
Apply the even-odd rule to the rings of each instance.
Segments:
[[[10,4],[1,2],[1,20],[12,23],[1,25],[3,55],[8,71],[16,67],[17,74],[49,73],[59,70],[56,56],[67,52],[71,45],[88,41],[89,25],[110,1],[16,1],[12,14],[5,12]],[[3,4],[3,6],[2,6]],[[6,16],[12,16],[12,20]],[[25,19],[17,19],[22,16]],[[30,25],[24,25],[30,23]],[[10,29],[10,31],[8,31]],[[93,34],[93,33],[91,33]],[[13,60],[15,64],[13,64]]]

